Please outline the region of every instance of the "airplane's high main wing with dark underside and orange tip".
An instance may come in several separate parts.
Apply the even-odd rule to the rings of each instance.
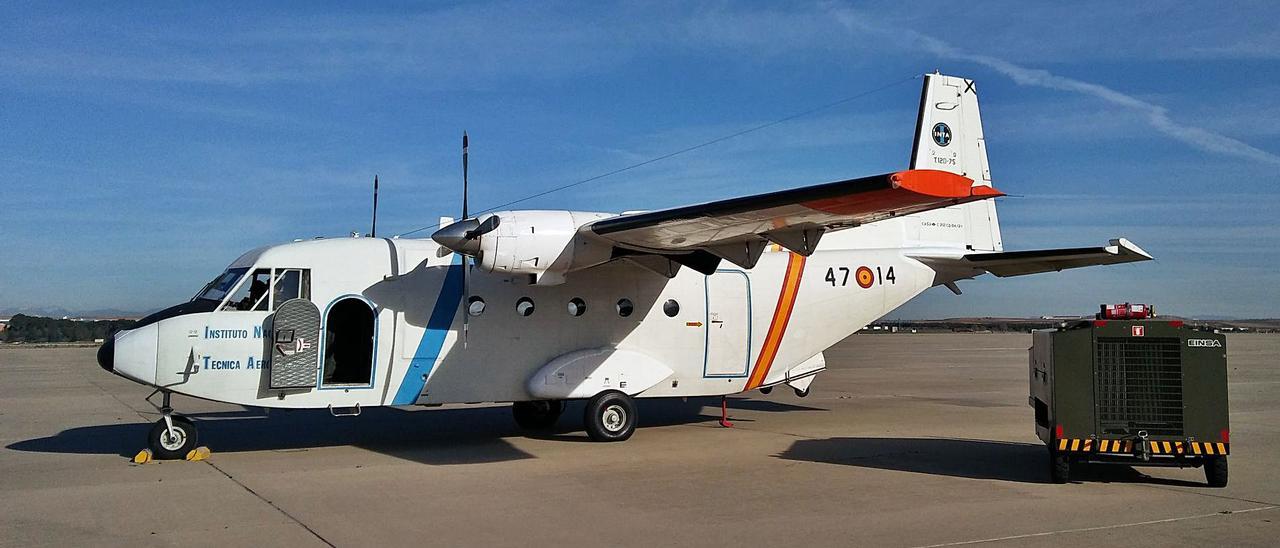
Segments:
[[[582,225],[621,256],[662,255],[704,274],[721,259],[755,266],[768,242],[810,255],[826,230],[1004,196],[948,172],[911,169]]]

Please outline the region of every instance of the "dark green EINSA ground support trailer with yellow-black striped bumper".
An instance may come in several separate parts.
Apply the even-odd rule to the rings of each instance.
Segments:
[[[1030,398],[1050,475],[1076,463],[1204,467],[1226,485],[1226,337],[1156,319],[1082,320],[1032,334]]]

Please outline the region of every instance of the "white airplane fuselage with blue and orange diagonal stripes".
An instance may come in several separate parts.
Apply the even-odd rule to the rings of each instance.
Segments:
[[[317,375],[311,388],[270,389],[269,310],[184,314],[122,332],[115,373],[261,407],[567,399],[608,388],[635,397],[731,394],[819,371],[823,350],[933,286],[934,271],[900,247],[904,223],[913,222],[844,230],[809,257],[774,247],[750,270],[724,262],[713,275],[685,268],[668,279],[613,261],[536,286],[472,269],[470,294],[484,310],[467,319],[465,343],[458,255],[439,256],[428,239],[294,242],[255,250],[232,268],[308,270],[320,333],[337,302],[369,306],[369,380]],[[895,247],[874,248],[886,243]],[[522,300],[531,314],[517,312]],[[571,315],[571,301],[585,311]]]

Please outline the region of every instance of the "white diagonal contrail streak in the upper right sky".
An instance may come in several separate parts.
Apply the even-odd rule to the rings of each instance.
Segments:
[[[1280,165],[1280,156],[1275,154],[1204,128],[1197,128],[1174,122],[1169,118],[1169,109],[1143,101],[1132,95],[1115,91],[1110,87],[1057,76],[1043,69],[1023,67],[991,55],[970,54],[938,38],[909,28],[879,27],[868,23],[852,10],[840,9],[833,13],[835,17],[851,31],[864,31],[892,36],[896,42],[901,42],[902,37],[906,37],[916,49],[928,51],[943,59],[956,59],[980,64],[1007,76],[1019,86],[1039,86],[1051,90],[1089,95],[1112,105],[1134,110],[1146,117],[1147,123],[1156,128],[1156,131],[1178,141],[1185,142],[1196,149],[1256,160],[1263,164]]]

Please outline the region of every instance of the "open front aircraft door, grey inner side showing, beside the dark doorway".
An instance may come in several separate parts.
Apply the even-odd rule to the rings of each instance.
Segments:
[[[279,305],[270,341],[270,387],[315,388],[320,364],[320,310],[306,298]]]

